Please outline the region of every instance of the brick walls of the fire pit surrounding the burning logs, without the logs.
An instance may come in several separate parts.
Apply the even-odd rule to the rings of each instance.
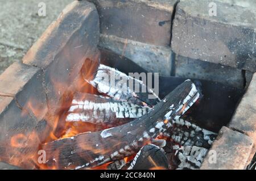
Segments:
[[[210,2],[217,4],[217,16],[209,16]],[[218,123],[222,128],[200,169],[246,169],[256,151],[256,24],[251,17],[256,18],[255,11],[222,1],[72,2],[28,50],[23,64],[14,63],[0,75],[0,169],[44,169],[36,166],[34,155],[56,128],[70,92],[87,86],[79,86],[86,60],[106,55],[105,50],[163,77],[245,91],[233,105],[233,116]],[[30,162],[23,155],[32,155]]]

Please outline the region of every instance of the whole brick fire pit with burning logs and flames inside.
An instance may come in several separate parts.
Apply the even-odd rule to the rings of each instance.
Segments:
[[[189,3],[68,5],[0,75],[0,168],[254,169],[255,62],[181,49]]]

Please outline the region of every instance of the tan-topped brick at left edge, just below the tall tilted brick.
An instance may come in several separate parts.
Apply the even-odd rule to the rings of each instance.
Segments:
[[[39,68],[15,62],[0,75],[0,96],[12,97],[38,120],[43,119],[47,103],[42,74]]]

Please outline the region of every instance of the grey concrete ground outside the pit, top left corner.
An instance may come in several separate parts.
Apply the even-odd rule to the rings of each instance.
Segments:
[[[0,74],[22,57],[73,0],[0,0]],[[39,16],[40,2],[46,16]]]

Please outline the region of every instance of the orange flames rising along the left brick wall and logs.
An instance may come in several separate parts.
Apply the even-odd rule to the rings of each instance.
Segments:
[[[96,57],[98,58],[98,57]],[[88,61],[88,60],[87,60]],[[94,74],[96,66],[89,66],[84,64],[82,71],[86,74],[81,74],[80,77],[77,77],[72,86],[68,85],[66,82],[63,82],[60,79],[55,77],[50,77],[51,82],[53,83],[53,92],[57,95],[63,95],[61,98],[60,110],[57,110],[57,113],[49,113],[48,108],[45,104],[41,103],[40,100],[35,98],[29,98],[27,103],[23,106],[22,113],[20,116],[24,117],[29,114],[29,116],[34,116],[37,120],[46,120],[47,131],[44,133],[46,135],[42,136],[42,133],[37,133],[36,131],[31,131],[30,133],[18,133],[10,138],[10,146],[7,148],[7,151],[10,151],[11,157],[6,158],[6,160],[16,166],[20,167],[34,167],[35,169],[58,169],[57,166],[47,166],[44,163],[38,162],[38,150],[40,150],[40,144],[44,142],[49,142],[57,140],[59,138],[67,138],[75,136],[79,133],[84,132],[94,132],[98,129],[104,129],[103,127],[99,128],[96,125],[81,123],[81,122],[66,122],[65,114],[71,105],[73,95],[75,92],[88,92],[88,93],[98,93],[94,87],[90,86],[88,82],[84,81],[83,76],[90,77]],[[86,71],[85,71],[86,69]],[[72,70],[71,70],[72,71]],[[72,74],[72,72],[71,72]],[[86,99],[86,98],[81,98]],[[52,102],[47,102],[47,106],[56,106],[50,105]],[[56,103],[55,103],[56,104]],[[43,138],[46,137],[46,138]],[[114,146],[117,146],[117,143]],[[88,145],[80,144],[82,149],[90,149]],[[59,150],[56,150],[58,153]],[[99,153],[100,150],[93,150],[95,153]],[[108,150],[101,150],[101,153],[104,154]],[[134,158],[134,155],[131,157],[125,158],[126,162],[131,161]],[[1,159],[1,155],[0,155]],[[93,169],[107,169],[109,163],[106,163],[102,166],[95,167]]]

